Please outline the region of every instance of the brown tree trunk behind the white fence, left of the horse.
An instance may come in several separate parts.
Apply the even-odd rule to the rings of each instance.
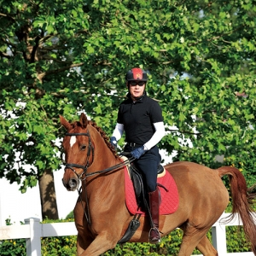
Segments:
[[[58,219],[58,208],[55,195],[55,182],[52,170],[46,169],[39,177],[39,190],[42,208],[42,218]]]

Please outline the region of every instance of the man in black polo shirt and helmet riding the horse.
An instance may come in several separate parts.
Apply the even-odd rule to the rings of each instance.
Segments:
[[[148,74],[141,68],[135,67],[126,73],[128,99],[119,105],[110,143],[116,148],[125,131],[125,152],[131,152],[136,159],[148,189],[149,209],[154,223],[149,231],[149,242],[157,243],[160,242],[160,192],[156,181],[160,153],[156,144],[165,136],[165,126],[159,103],[147,96],[147,81]]]

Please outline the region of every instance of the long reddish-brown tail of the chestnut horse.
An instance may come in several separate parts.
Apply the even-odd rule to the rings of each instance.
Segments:
[[[235,216],[234,213],[238,213],[247,237],[247,241],[250,241],[254,255],[256,255],[256,225],[253,221],[254,199],[256,194],[253,193],[253,189],[247,189],[247,183],[241,172],[235,167],[223,166],[218,168],[218,174],[220,177],[229,175],[230,179],[230,191],[232,197],[232,213],[228,221],[231,221]]]

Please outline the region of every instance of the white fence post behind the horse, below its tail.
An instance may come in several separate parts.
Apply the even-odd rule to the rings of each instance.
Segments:
[[[225,225],[217,222],[212,226],[212,245],[218,251],[218,255],[227,255],[226,239]]]

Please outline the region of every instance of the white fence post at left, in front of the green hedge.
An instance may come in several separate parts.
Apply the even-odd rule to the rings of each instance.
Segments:
[[[39,218],[26,218],[25,224],[30,225],[30,238],[26,238],[26,255],[41,256],[41,224]]]

